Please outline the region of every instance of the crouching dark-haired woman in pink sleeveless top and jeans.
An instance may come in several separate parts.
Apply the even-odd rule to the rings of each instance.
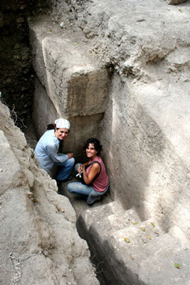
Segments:
[[[104,162],[100,157],[102,145],[95,138],[90,138],[85,142],[86,155],[88,162],[76,164],[75,171],[83,177],[83,182],[72,182],[68,184],[68,192],[73,195],[86,197],[87,204],[93,204],[100,196],[107,192],[109,178],[105,170]],[[84,183],[84,184],[83,184]]]

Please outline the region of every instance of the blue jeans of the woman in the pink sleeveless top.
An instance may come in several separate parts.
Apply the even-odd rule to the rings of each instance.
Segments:
[[[79,165],[81,165],[81,163],[77,163],[75,165],[76,172]],[[106,190],[103,192],[97,192],[93,189],[91,185],[85,185],[81,182],[68,183],[67,187],[68,187],[68,192],[70,192],[71,194],[78,197],[85,197],[87,198],[87,204],[93,204],[93,202],[100,199],[100,196],[104,195],[105,192],[107,192],[109,185],[107,186]]]

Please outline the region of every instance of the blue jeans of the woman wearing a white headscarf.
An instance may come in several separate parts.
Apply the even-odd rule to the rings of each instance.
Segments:
[[[73,170],[73,166],[75,164],[75,158],[71,157],[69,160],[65,162],[54,162],[54,165],[59,166],[58,175],[56,177],[57,180],[66,180],[71,171]]]

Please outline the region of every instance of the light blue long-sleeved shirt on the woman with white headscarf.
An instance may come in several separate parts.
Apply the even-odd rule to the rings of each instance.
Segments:
[[[38,157],[39,165],[47,172],[51,170],[54,162],[65,162],[68,155],[58,153],[60,140],[55,135],[55,130],[46,130],[35,148],[35,155]]]

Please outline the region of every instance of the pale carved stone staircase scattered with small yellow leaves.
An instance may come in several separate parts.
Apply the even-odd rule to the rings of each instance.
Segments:
[[[82,212],[78,232],[106,284],[190,284],[189,242],[179,227],[166,233],[154,219],[141,221],[134,209],[115,201]]]

